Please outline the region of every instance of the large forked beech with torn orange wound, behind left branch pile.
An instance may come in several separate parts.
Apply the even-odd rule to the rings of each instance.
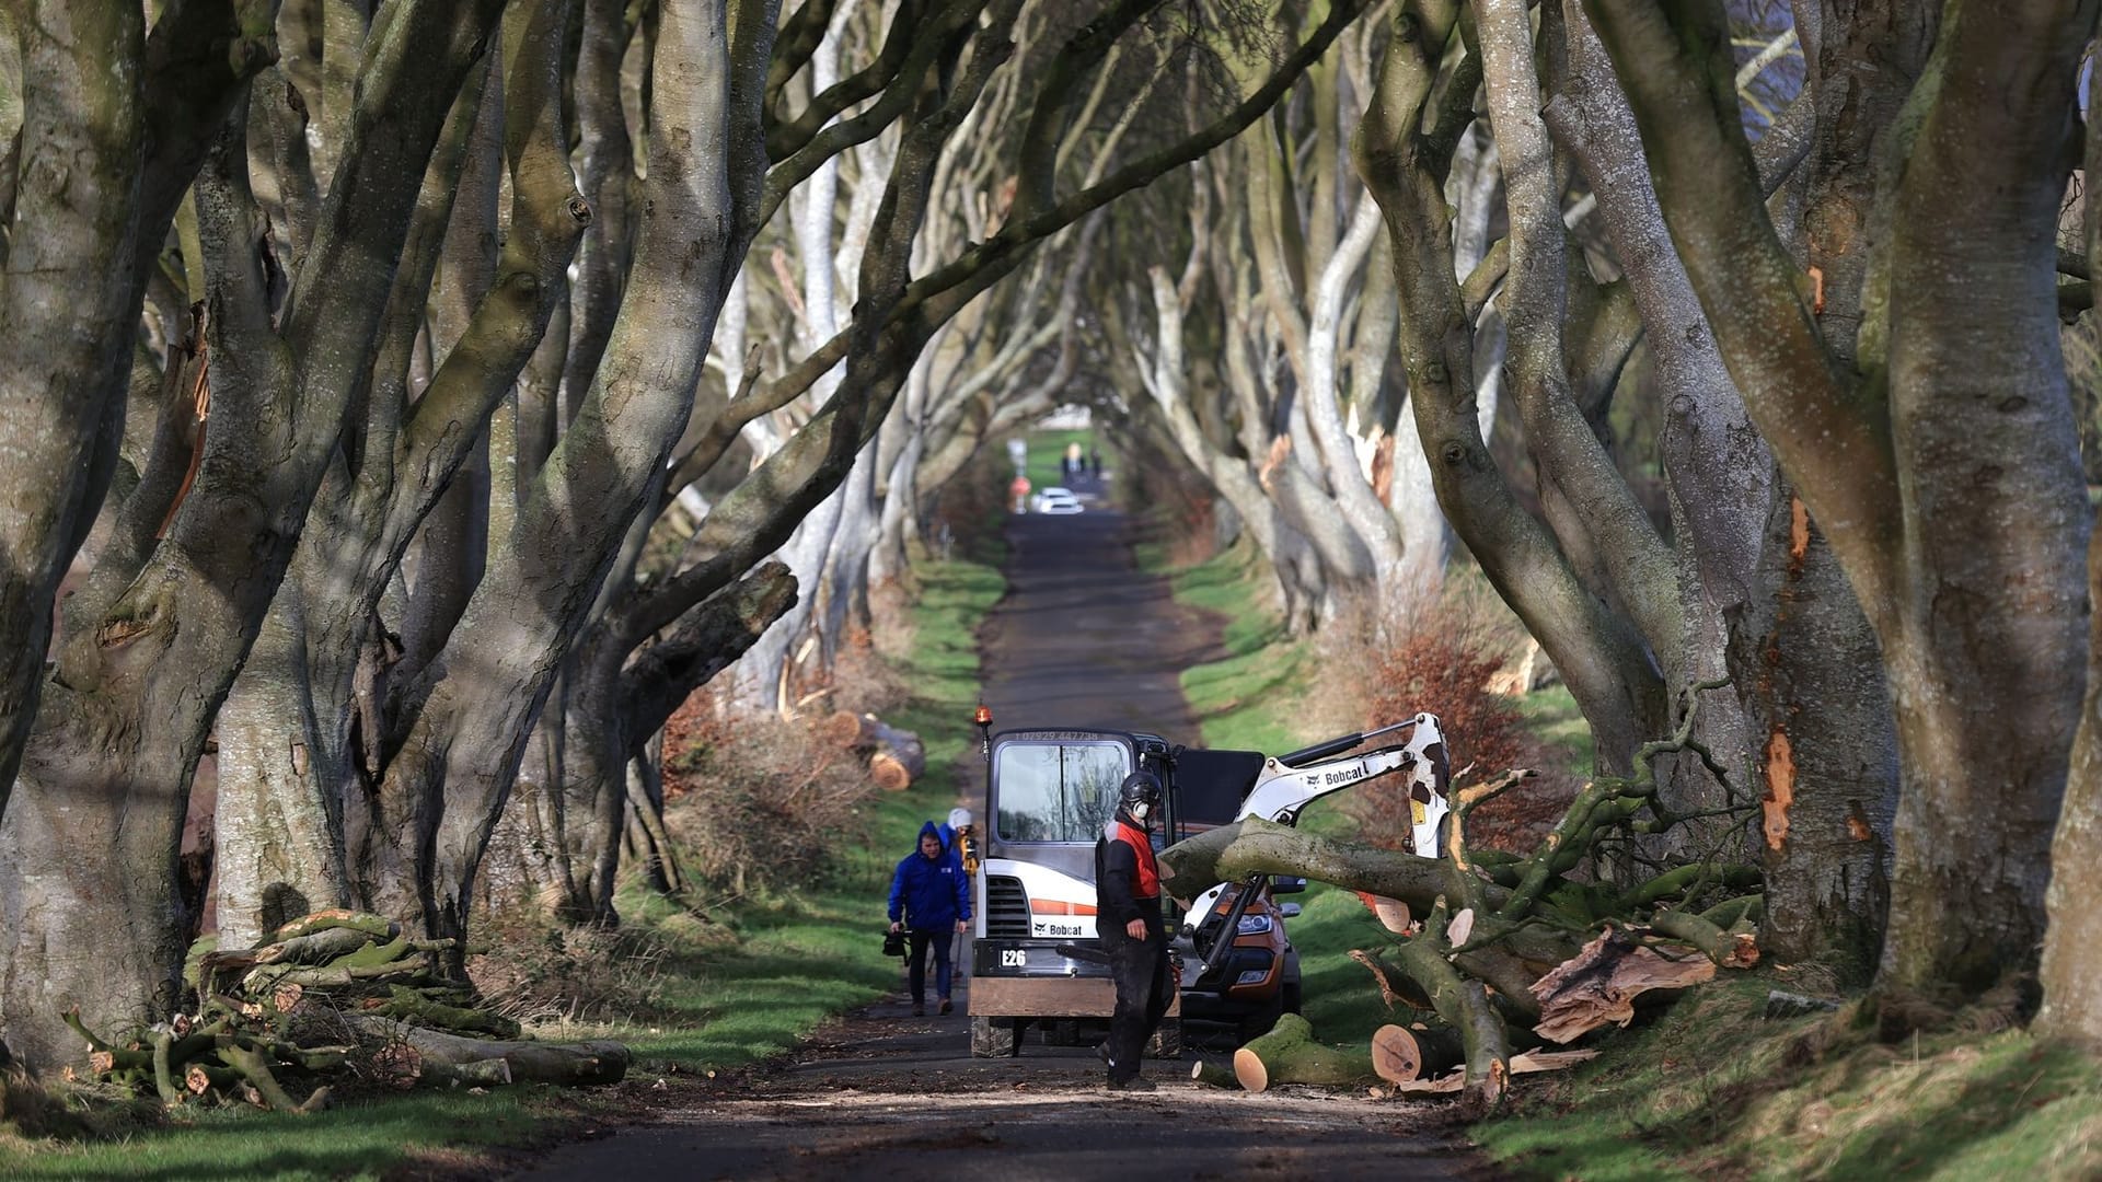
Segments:
[[[183,961],[174,841],[212,713],[263,623],[357,372],[370,355],[414,191],[498,4],[408,4],[364,65],[338,189],[309,282],[273,322],[242,103],[198,181],[212,429],[187,498],[151,467],[111,498],[109,541],[67,606],[17,797],[0,818],[6,930],[0,1024],[25,1058],[78,1054],[59,1014],[101,1026],[166,1012]],[[385,114],[383,114],[385,107]],[[328,276],[328,282],[315,280]],[[170,463],[187,456],[168,456]],[[162,524],[166,530],[162,536]]]

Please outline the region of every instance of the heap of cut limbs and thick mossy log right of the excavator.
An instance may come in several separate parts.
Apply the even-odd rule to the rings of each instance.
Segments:
[[[1679,816],[1658,799],[1652,763],[1667,753],[1694,753],[1730,784],[1692,738],[1692,713],[1688,700],[1675,734],[1642,747],[1635,776],[1585,784],[1524,856],[1467,848],[1467,816],[1532,774],[1516,770],[1455,795],[1442,858],[1246,818],[1162,850],[1160,879],[1177,898],[1257,875],[1305,875],[1360,892],[1396,940],[1352,957],[1373,972],[1389,1007],[1406,1005],[1425,1018],[1402,1028],[1417,1047],[1404,1058],[1417,1071],[1455,1060],[1442,1079],[1389,1081],[1404,1094],[1459,1092],[1465,1115],[1486,1115],[1503,1102],[1513,1060],[1522,1058],[1511,1054],[1513,1045],[1541,1039],[1568,1045],[1591,1031],[1625,1026],[1646,993],[1669,997],[1656,991],[1757,963],[1761,879],[1753,867],[1709,856],[1658,867],[1633,883],[1579,875],[1598,867],[1604,848],[1621,850],[1629,839],[1709,816],[1734,820],[1753,808],[1732,803]],[[1375,1037],[1366,1058],[1381,1054]]]

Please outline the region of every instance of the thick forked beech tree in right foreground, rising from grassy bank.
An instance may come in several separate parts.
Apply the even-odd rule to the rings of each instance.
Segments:
[[[1852,265],[1820,269],[1822,299],[1719,84],[1734,67],[1722,8],[1585,8],[1722,358],[1881,646],[1902,793],[1877,984],[1982,989],[2035,963],[2081,717],[2089,513],[2054,231],[2096,8],[1896,4],[1829,29],[1877,65],[1833,78],[1852,95],[1820,114],[1837,103],[1837,135],[1881,168],[1825,210],[1869,236]],[[1858,320],[1831,320],[1835,288]],[[2066,858],[2089,831],[2066,827],[2060,873],[2094,864]]]

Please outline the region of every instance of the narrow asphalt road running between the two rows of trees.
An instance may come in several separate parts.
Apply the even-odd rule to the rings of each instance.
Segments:
[[[1026,515],[1007,536],[1009,595],[980,633],[994,728],[1104,726],[1196,742],[1177,675],[1217,654],[1217,629],[1135,570],[1127,522]],[[982,780],[963,782],[982,795]],[[671,1104],[652,1104],[650,1123],[559,1146],[517,1178],[1499,1178],[1429,1104],[1192,1083],[1190,1064],[1223,1062],[1232,1041],[1190,1039],[1181,1062],[1150,1062],[1152,1094],[1110,1094],[1089,1047],[1034,1037],[1017,1058],[973,1060],[967,984],[954,1014],[912,1018],[900,980],[900,993],[828,1024],[788,1060],[685,1083]]]

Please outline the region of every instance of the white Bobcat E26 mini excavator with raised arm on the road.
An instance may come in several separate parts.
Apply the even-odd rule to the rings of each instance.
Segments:
[[[1106,1028],[1116,1005],[1110,967],[1095,942],[1095,839],[1116,812],[1116,787],[1133,770],[1162,784],[1156,845],[1261,816],[1297,824],[1316,799],[1389,774],[1408,791],[1408,843],[1438,856],[1450,814],[1450,759],[1438,717],[1341,734],[1286,755],[1171,747],[1156,734],[1118,730],[1007,730],[977,711],[986,757],[984,856],[975,877],[971,942],[971,1054],[1011,1056],[1032,1022],[1047,1041],[1078,1045]],[[1385,747],[1345,755],[1396,736]],[[1278,894],[1303,879],[1253,875],[1207,890],[1171,925],[1181,991],[1162,1022],[1156,1054],[1179,1052],[1179,1018],[1223,1020],[1261,1033],[1299,1007],[1299,955],[1284,934],[1297,904]]]

